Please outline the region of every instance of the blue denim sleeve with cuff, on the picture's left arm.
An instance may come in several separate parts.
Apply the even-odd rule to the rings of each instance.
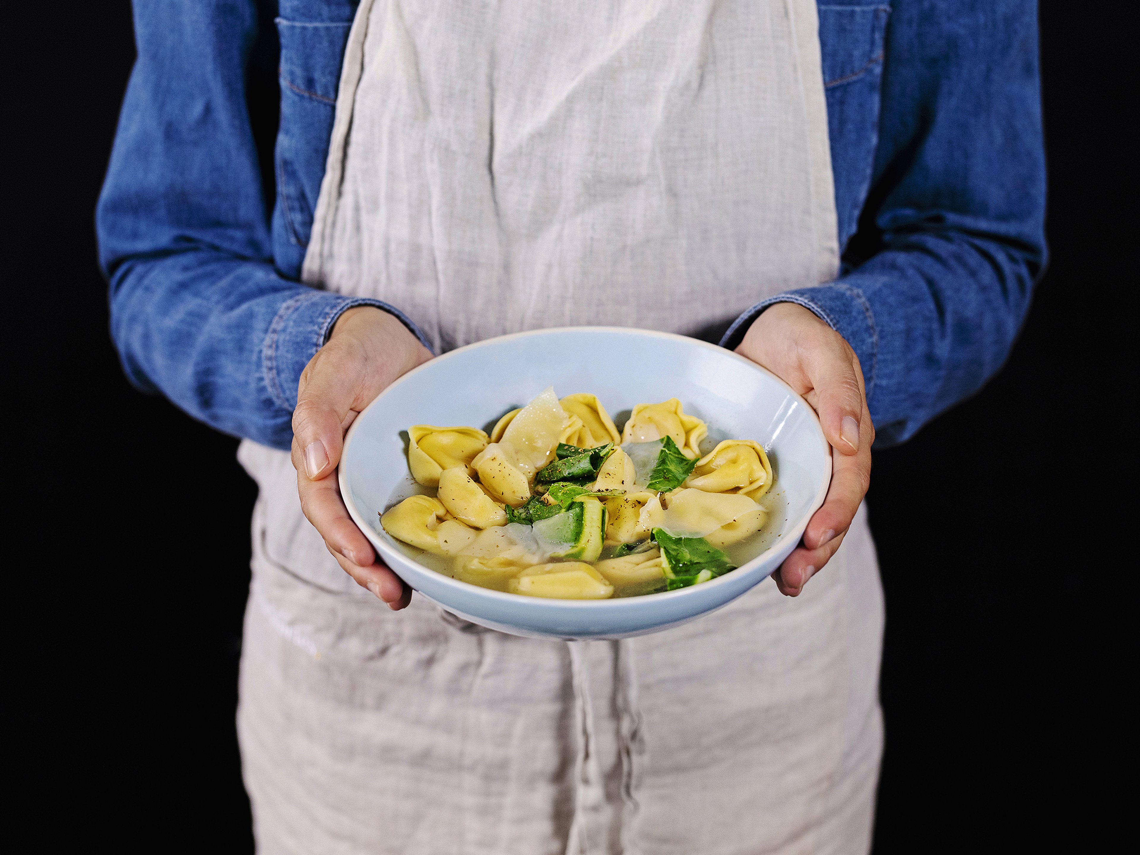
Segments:
[[[96,211],[128,377],[227,433],[292,442],[296,384],[359,300],[274,267],[245,100],[254,0],[135,5],[131,72]],[[424,342],[426,345],[426,342]]]

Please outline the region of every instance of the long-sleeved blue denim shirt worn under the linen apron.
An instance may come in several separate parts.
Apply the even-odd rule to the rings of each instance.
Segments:
[[[722,343],[773,302],[807,307],[855,349],[879,442],[897,442],[1000,368],[1044,263],[1036,7],[819,9],[842,270],[752,307]],[[131,381],[278,448],[332,324],[377,302],[298,282],[355,10],[279,2],[269,218],[246,104],[255,0],[136,3],[138,60],[97,210]]]

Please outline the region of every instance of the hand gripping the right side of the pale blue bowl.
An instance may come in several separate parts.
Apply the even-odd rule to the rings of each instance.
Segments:
[[[782,594],[797,596],[844,542],[871,483],[874,425],[866,406],[858,357],[839,333],[796,303],[766,309],[736,352],[795,389],[820,415],[831,443],[831,486],[800,546],[772,576]]]

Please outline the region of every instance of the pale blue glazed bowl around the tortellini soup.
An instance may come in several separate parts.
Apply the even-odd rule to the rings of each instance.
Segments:
[[[741,568],[679,591],[620,600],[543,600],[448,578],[410,557],[380,526],[394,498],[416,491],[401,432],[413,424],[482,426],[546,386],[592,392],[617,416],[635,404],[679,398],[715,439],[767,449],[787,503],[767,551]],[[341,495],[357,526],[401,579],[458,617],[514,635],[621,638],[684,624],[763,581],[799,543],[823,504],[831,450],[815,413],[783,381],[723,348],[681,335],[572,327],[505,335],[445,353],[385,389],[352,423]],[[785,519],[780,519],[785,518]]]

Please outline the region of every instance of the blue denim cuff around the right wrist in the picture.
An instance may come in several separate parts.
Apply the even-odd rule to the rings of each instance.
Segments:
[[[765,309],[775,303],[796,303],[813,312],[850,344],[858,357],[866,385],[866,397],[871,397],[878,374],[879,332],[874,324],[871,304],[863,292],[842,279],[809,288],[785,291],[758,302],[736,318],[720,340],[722,348],[734,350],[743,341],[752,321]]]

